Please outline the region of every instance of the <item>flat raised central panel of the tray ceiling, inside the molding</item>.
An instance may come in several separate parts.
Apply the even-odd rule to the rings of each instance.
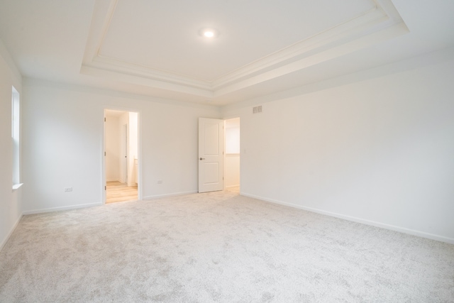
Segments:
[[[262,0],[111,4],[109,13],[95,17],[107,18],[99,57],[206,82],[376,9],[373,0],[318,0],[309,7],[307,1]],[[200,28],[216,28],[220,35],[206,39]]]

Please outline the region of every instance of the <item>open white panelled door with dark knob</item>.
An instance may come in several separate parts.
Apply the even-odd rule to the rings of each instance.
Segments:
[[[224,121],[199,118],[199,192],[223,190]]]

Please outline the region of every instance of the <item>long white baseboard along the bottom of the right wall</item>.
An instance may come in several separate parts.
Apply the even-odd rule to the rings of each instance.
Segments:
[[[357,222],[357,223],[361,223],[361,224],[366,224],[366,225],[370,225],[370,226],[375,226],[375,227],[380,227],[380,228],[384,228],[384,229],[389,229],[391,231],[399,231],[400,233],[408,233],[408,234],[413,235],[413,236],[419,236],[419,237],[422,237],[422,238],[428,238],[428,239],[431,239],[431,240],[436,240],[436,241],[441,241],[441,242],[454,244],[454,238],[448,238],[448,237],[445,237],[445,236],[438,236],[438,235],[435,235],[433,233],[426,233],[424,231],[416,231],[416,230],[410,229],[410,228],[405,228],[405,227],[395,226],[395,225],[390,225],[390,224],[384,224],[384,223],[380,223],[380,222],[377,222],[377,221],[371,221],[371,220],[367,220],[367,219],[361,219],[361,218],[358,218],[358,217],[355,217],[355,216],[346,216],[346,215],[334,213],[334,212],[331,212],[331,211],[323,211],[321,209],[314,209],[312,207],[306,207],[306,206],[301,206],[301,205],[297,205],[297,204],[277,201],[277,200],[273,200],[273,199],[267,199],[267,198],[264,198],[264,197],[255,196],[254,194],[247,194],[247,193],[244,193],[244,192],[241,192],[240,194],[245,196],[245,197],[259,199],[259,200],[262,200],[262,201],[265,201],[265,202],[270,202],[270,203],[274,203],[274,204],[281,204],[281,205],[284,205],[284,206],[294,207],[296,209],[302,209],[302,210],[305,210],[305,211],[311,211],[311,212],[314,212],[314,213],[317,213],[317,214],[324,214],[326,216],[333,216],[333,217],[336,217],[336,218],[339,218],[339,219],[344,219],[344,220],[353,221],[353,222]]]

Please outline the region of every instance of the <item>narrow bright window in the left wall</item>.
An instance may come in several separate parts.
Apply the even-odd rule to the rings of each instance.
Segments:
[[[13,87],[12,92],[12,104],[11,104],[11,138],[13,141],[13,190],[21,187],[21,175],[20,175],[20,163],[21,163],[21,147],[19,134],[20,132],[20,103],[19,103],[19,93]]]

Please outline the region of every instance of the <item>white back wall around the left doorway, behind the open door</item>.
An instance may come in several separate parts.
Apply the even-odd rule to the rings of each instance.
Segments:
[[[196,192],[198,118],[220,118],[214,106],[35,79],[23,90],[26,213],[102,203],[105,108],[139,113],[144,198]]]

